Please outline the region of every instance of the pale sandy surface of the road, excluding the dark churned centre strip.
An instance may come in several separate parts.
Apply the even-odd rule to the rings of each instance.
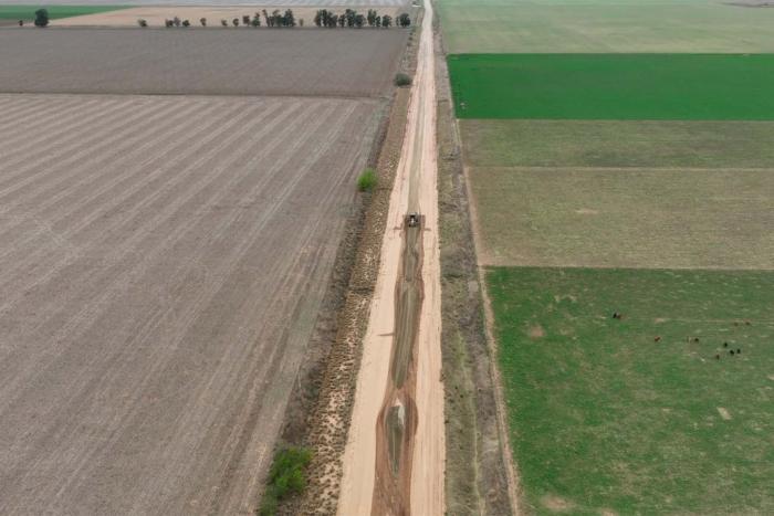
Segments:
[[[415,403],[417,428],[410,464],[410,510],[417,515],[443,514],[443,386],[440,351],[440,266],[438,248],[438,191],[436,162],[436,95],[432,41],[432,6],[426,2],[417,74],[411,94],[400,165],[390,199],[381,250],[381,268],[372,304],[368,330],[352,415],[349,442],[344,455],[344,476],[338,514],[399,514],[399,508],[374,504],[379,474],[389,464],[376,461],[377,420],[390,387],[391,347],[395,340],[396,284],[401,267],[404,215],[411,210],[425,215],[422,235],[423,296],[416,362]]]

